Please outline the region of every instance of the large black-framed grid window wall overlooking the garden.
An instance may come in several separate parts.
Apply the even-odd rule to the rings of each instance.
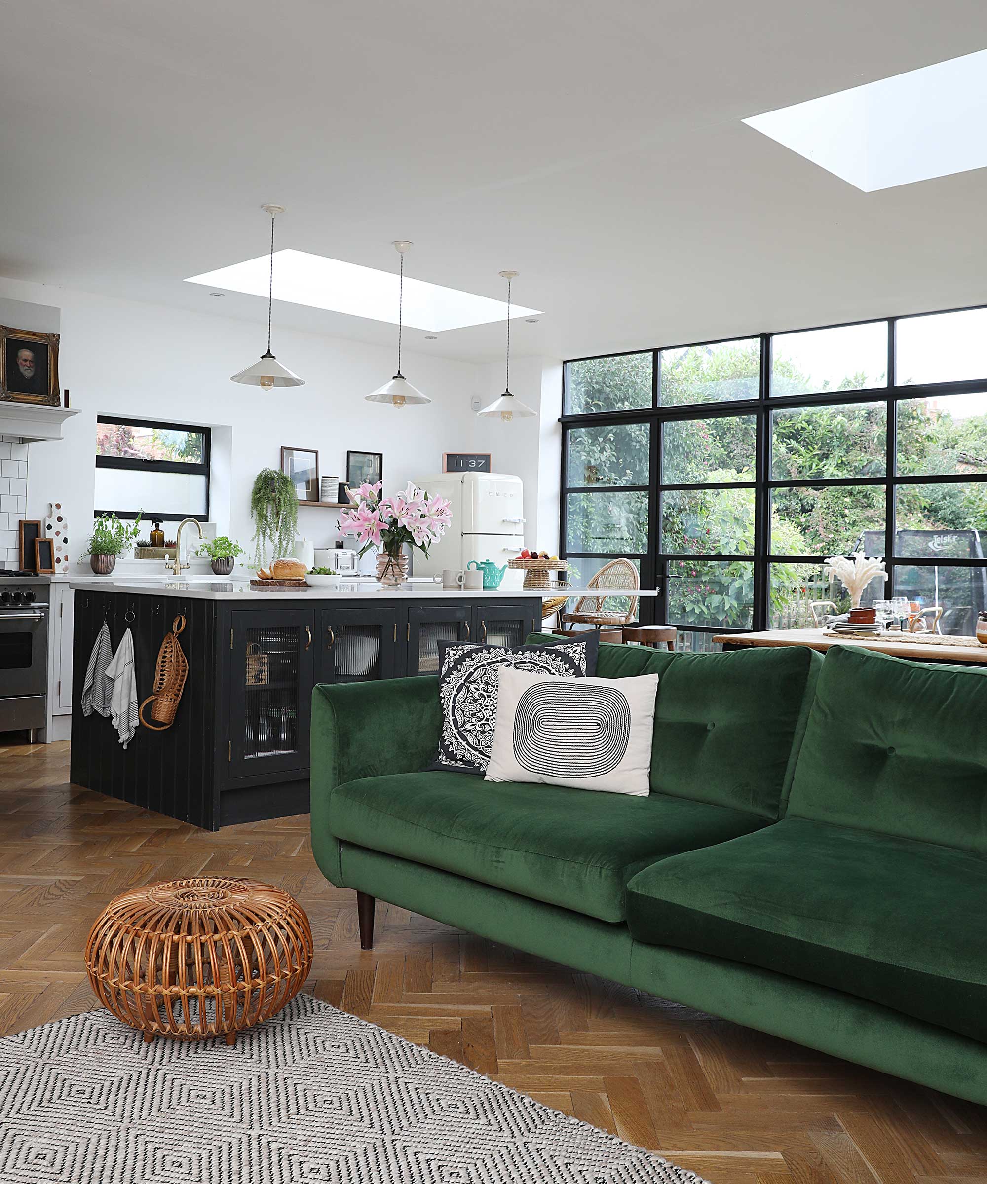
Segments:
[[[629,556],[686,649],[844,610],[823,564],[860,549],[865,604],[987,607],[987,308],[575,359],[563,407],[571,578]]]

